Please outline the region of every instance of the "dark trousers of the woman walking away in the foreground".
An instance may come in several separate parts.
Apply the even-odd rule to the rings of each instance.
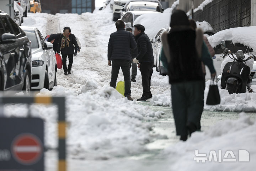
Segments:
[[[177,135],[187,136],[187,124],[199,129],[204,107],[204,81],[180,82],[171,85],[172,110]]]

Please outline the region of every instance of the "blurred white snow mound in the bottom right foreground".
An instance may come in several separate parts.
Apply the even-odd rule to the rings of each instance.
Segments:
[[[220,121],[206,132],[195,132],[186,142],[179,142],[165,149],[159,155],[161,161],[155,167],[158,167],[158,170],[165,171],[206,170],[206,168],[207,171],[255,170],[255,129],[256,123],[252,122],[249,116],[245,114],[240,114],[238,120]],[[196,160],[194,160],[194,157],[196,157],[195,150],[198,150],[199,154],[207,154],[206,163],[202,163],[202,161],[196,163]],[[231,150],[235,155],[236,162],[223,162],[223,160],[220,160],[222,163],[218,163],[214,162],[214,158],[212,158],[213,161],[209,162],[211,150],[216,152],[217,160],[219,159],[218,150],[222,150],[222,159],[224,159],[224,154]],[[247,150],[249,152],[250,162],[238,161],[239,150]],[[231,159],[230,155],[228,159]]]

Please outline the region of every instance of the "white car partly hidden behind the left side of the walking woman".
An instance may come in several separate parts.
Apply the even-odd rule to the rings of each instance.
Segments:
[[[162,66],[162,62],[160,61],[160,55],[162,50],[162,42],[161,35],[164,32],[170,32],[170,29],[162,28],[158,34],[155,35],[154,38],[151,39],[152,47],[153,47],[153,55],[155,58],[154,67],[156,67],[156,71],[159,72],[160,75],[167,75],[168,71]]]

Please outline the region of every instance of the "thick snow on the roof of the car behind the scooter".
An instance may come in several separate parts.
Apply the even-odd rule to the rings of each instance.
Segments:
[[[233,43],[240,43],[256,50],[256,26],[236,27],[222,30],[208,38],[210,44],[216,47],[222,40],[232,40]]]

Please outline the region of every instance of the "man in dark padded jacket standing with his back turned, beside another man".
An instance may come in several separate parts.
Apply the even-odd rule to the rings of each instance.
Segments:
[[[122,20],[116,22],[117,31],[110,35],[108,42],[108,65],[111,66],[111,81],[110,86],[116,88],[116,81],[120,67],[124,75],[124,96],[129,100],[133,100],[130,97],[131,90],[131,49],[136,48],[136,42],[132,33],[125,30],[125,24]]]

